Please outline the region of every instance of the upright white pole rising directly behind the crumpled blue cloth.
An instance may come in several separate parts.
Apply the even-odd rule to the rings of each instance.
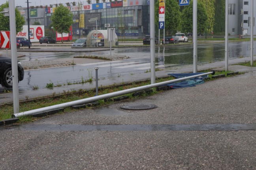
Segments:
[[[197,0],[193,0],[193,72],[197,72]]]

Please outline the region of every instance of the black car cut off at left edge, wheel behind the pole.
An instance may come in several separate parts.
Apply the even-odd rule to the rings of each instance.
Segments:
[[[18,80],[22,81],[24,78],[24,69],[21,62],[18,61]],[[4,87],[12,87],[12,74],[11,74],[11,58],[0,57],[0,84]]]

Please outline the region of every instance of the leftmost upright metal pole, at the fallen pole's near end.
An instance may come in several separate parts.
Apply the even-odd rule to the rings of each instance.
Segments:
[[[11,42],[11,73],[13,80],[13,113],[19,113],[19,80],[17,67],[17,46],[16,46],[16,22],[15,22],[15,2],[9,0],[9,22],[10,22],[10,42]]]

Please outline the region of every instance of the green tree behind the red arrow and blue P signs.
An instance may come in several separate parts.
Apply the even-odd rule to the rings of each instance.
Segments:
[[[155,24],[159,22],[159,0],[155,3]],[[165,2],[165,31],[166,34],[174,34],[177,32],[181,21],[180,6],[177,0],[166,0]]]

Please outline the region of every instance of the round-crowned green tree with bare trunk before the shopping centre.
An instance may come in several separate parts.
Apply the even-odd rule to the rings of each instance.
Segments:
[[[63,33],[70,32],[70,26],[73,24],[73,15],[67,7],[60,5],[56,7],[55,12],[51,16],[53,28],[61,33],[61,41],[63,43]]]

